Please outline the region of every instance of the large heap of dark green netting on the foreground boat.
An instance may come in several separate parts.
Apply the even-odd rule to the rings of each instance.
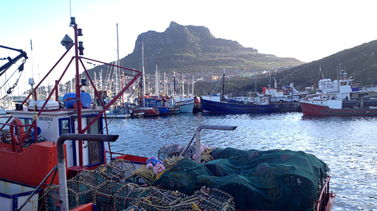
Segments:
[[[329,169],[302,151],[217,148],[205,164],[184,158],[154,181],[190,195],[206,186],[229,193],[237,210],[313,210]]]

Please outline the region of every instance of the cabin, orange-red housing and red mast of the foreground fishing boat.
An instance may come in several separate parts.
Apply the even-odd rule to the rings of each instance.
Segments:
[[[137,70],[83,57],[84,47],[82,42],[78,41],[78,37],[82,36],[82,33],[75,23],[75,18],[71,18],[70,27],[73,27],[75,41],[66,34],[61,41],[61,44],[66,46],[63,56],[37,85],[35,85],[34,79],[30,78],[29,84],[32,87],[32,92],[22,103],[16,105],[15,110],[8,111],[10,116],[1,117],[3,120],[0,124],[1,187],[13,186],[20,190],[20,192],[16,192],[16,195],[15,192],[0,194],[1,205],[8,203],[8,198],[11,198],[11,204],[2,207],[1,210],[7,209],[7,207],[10,210],[21,210],[24,206],[24,210],[37,210],[39,206],[44,207],[44,205],[38,205],[39,197],[35,200],[23,198],[25,204],[22,204],[23,201],[18,201],[21,199],[18,196],[42,193],[40,188],[48,188],[54,184],[58,185],[60,189],[60,202],[54,207],[68,210],[66,179],[73,177],[81,170],[93,170],[107,163],[104,141],[115,141],[118,136],[104,135],[108,122],[103,115],[142,75],[142,72]],[[74,51],[74,55],[70,59],[67,58],[68,53],[72,51]],[[27,57],[25,56],[25,58]],[[69,63],[66,68],[61,68],[60,63],[64,59]],[[135,76],[105,105],[83,61],[122,68],[132,73],[135,72]],[[58,85],[72,63],[75,63],[76,67],[75,92],[64,94],[63,103],[59,103]],[[60,70],[57,70],[58,68]],[[86,75],[89,79],[94,89],[95,98],[101,103],[100,106],[92,104],[91,96],[82,91],[86,83],[80,79],[79,68],[83,68],[82,75]],[[37,89],[49,75],[54,74],[54,71],[60,71],[61,76],[56,80],[47,99],[39,100],[35,94]],[[109,151],[111,151],[110,146]],[[56,177],[57,170],[58,177]],[[35,188],[34,193],[31,193],[30,187]],[[0,188],[0,190],[8,189]],[[22,192],[22,190],[27,191]]]

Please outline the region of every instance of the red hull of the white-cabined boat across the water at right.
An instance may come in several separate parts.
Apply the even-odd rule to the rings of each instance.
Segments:
[[[301,102],[304,115],[319,116],[377,116],[377,108],[329,108],[328,106],[315,105]]]

